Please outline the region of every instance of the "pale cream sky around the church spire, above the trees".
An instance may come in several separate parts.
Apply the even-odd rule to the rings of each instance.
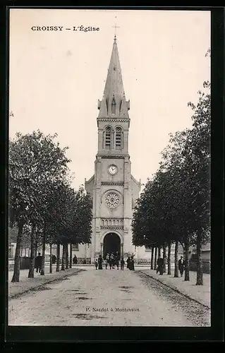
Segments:
[[[61,147],[68,146],[75,189],[94,174],[97,100],[115,24],[130,100],[131,173],[143,184],[157,171],[169,133],[191,126],[188,102],[196,103],[197,90],[210,80],[209,11],[11,9],[9,137],[37,129],[58,133]],[[73,30],[81,25],[99,30]]]

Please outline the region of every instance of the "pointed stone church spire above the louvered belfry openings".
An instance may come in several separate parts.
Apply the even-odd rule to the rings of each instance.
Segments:
[[[114,44],[109,62],[107,80],[104,88],[102,101],[99,101],[99,118],[108,116],[114,118],[128,119],[128,110],[130,101],[126,101],[123,89],[123,80],[121,74],[121,65],[118,59],[118,48],[116,43],[116,35],[114,36]]]

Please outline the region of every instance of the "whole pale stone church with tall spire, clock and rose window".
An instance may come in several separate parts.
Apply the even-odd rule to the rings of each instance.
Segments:
[[[130,101],[126,100],[116,35],[102,100],[97,108],[97,155],[95,174],[85,179],[85,190],[92,196],[91,244],[78,244],[78,260],[94,263],[101,253],[116,253],[125,259],[133,255],[135,263],[148,263],[150,249],[132,244],[131,222],[140,181],[131,174],[128,136]],[[79,261],[83,262],[83,261]]]

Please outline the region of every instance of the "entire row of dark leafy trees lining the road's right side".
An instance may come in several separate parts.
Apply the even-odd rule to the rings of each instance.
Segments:
[[[185,280],[189,280],[189,247],[197,247],[197,282],[203,285],[202,244],[209,241],[210,219],[210,125],[209,82],[199,91],[193,109],[193,126],[170,136],[162,152],[162,162],[148,180],[138,199],[133,216],[133,244],[163,249],[170,263],[171,244],[175,243],[175,273],[178,277],[178,244],[185,251]],[[170,265],[169,265],[170,266]],[[169,270],[170,271],[170,270]]]

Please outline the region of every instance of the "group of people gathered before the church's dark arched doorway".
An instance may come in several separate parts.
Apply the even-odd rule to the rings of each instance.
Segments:
[[[102,258],[102,255],[99,255],[99,258],[97,258],[95,260],[95,269],[96,270],[102,270],[103,262],[104,262],[104,260]],[[119,265],[120,265],[120,268],[123,271],[124,265],[125,265],[125,261],[124,261],[123,257],[121,257],[121,259],[120,259],[120,256],[118,255],[118,252],[117,253],[110,253],[110,254],[107,253],[107,256],[106,256],[106,259],[105,259],[104,263],[105,263],[106,270],[108,268],[108,265],[109,265],[110,270],[114,269],[115,266],[116,266],[116,268],[118,270]],[[129,270],[134,270],[135,269],[134,268],[133,256],[131,256],[131,257],[128,256],[128,259],[127,259],[126,263],[127,263],[126,267]]]

